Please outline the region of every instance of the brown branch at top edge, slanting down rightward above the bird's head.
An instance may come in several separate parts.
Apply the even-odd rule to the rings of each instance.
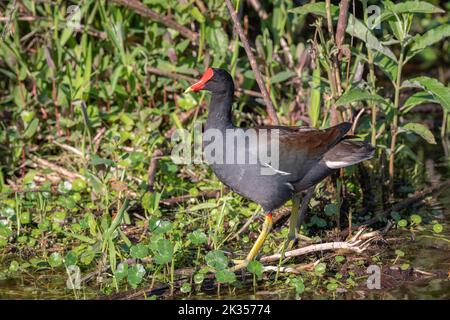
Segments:
[[[134,10],[137,14],[144,16],[144,17],[148,17],[156,22],[159,22],[159,23],[165,25],[168,28],[178,30],[181,35],[192,40],[193,42],[196,42],[198,39],[198,33],[194,32],[192,30],[189,30],[185,26],[182,26],[181,24],[172,20],[169,17],[159,15],[155,11],[147,8],[140,1],[137,1],[137,0],[113,0],[113,2],[123,5],[123,6],[126,6],[130,9]]]

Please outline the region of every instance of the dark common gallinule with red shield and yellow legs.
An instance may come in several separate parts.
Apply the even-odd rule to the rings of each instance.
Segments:
[[[335,169],[359,163],[374,155],[375,149],[369,143],[345,139],[344,135],[351,128],[348,122],[323,130],[307,127],[234,126],[231,116],[234,83],[231,75],[223,69],[208,68],[201,79],[186,92],[199,90],[212,93],[203,133],[204,151],[214,142],[211,136],[221,134],[222,137],[228,137],[230,132],[235,133],[234,137],[242,139],[255,133],[259,143],[255,145],[255,140],[252,142],[251,139],[244,140],[245,143],[227,141],[222,150],[215,150],[223,157],[223,162],[217,161],[218,155],[214,152],[209,155],[205,152],[206,160],[219,180],[241,196],[261,205],[266,213],[262,231],[254,246],[247,258],[233,270],[245,268],[255,258],[272,227],[273,210],[281,207],[293,195],[314,186]],[[234,155],[239,153],[249,159],[257,148],[261,148],[261,141],[266,141],[266,144],[270,144],[269,141],[278,142],[277,167],[260,158],[256,163],[226,161],[230,154],[236,160]],[[267,149],[271,147],[272,145],[267,146]],[[267,172],[267,169],[272,172]],[[291,219],[291,224],[292,221]]]

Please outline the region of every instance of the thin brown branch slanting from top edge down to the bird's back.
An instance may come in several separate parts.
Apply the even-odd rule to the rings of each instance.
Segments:
[[[248,60],[250,61],[252,70],[255,74],[256,82],[258,83],[259,90],[261,90],[264,102],[266,104],[267,114],[269,115],[269,118],[270,118],[272,124],[277,125],[279,123],[277,113],[272,104],[272,101],[270,100],[269,92],[267,91],[267,88],[264,85],[264,80],[261,76],[261,72],[258,69],[258,64],[256,63],[255,57],[253,56],[253,53],[252,53],[252,49],[250,48],[250,45],[248,44],[247,37],[245,36],[244,30],[242,29],[241,23],[239,22],[239,19],[236,15],[236,11],[234,10],[231,0],[225,0],[225,3],[227,5],[228,11],[230,12],[231,19],[233,20],[234,26],[239,34],[239,38],[241,39],[242,44],[244,45],[244,49],[245,49],[245,52],[247,53],[247,57],[248,57]]]

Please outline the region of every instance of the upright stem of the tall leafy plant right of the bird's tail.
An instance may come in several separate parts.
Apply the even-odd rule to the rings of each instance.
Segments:
[[[394,160],[395,160],[395,146],[397,143],[397,131],[398,131],[398,108],[400,103],[400,89],[402,83],[402,68],[404,59],[404,47],[402,45],[400,51],[400,58],[398,60],[397,79],[395,82],[395,97],[394,97],[394,119],[391,126],[391,153],[389,155],[389,183],[391,191],[394,186]]]

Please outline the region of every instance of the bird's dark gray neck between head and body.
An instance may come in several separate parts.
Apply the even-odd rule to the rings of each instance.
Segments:
[[[225,130],[233,127],[231,121],[233,98],[234,88],[212,93],[205,129]]]

